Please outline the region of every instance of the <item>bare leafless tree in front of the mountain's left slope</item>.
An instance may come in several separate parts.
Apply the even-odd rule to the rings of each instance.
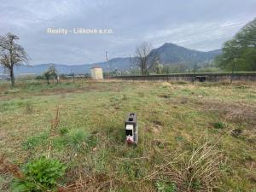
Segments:
[[[150,68],[154,67],[154,64],[159,61],[159,55],[156,51],[151,49],[150,44],[144,42],[137,47],[135,60],[142,74],[147,74]]]

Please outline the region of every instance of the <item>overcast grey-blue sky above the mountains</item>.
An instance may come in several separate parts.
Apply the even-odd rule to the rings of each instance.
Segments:
[[[256,17],[255,0],[3,0],[0,34],[13,32],[31,64],[86,64],[133,55],[145,41],[190,49],[221,48]],[[48,28],[70,32],[51,34]],[[74,34],[73,28],[111,29],[111,34]]]

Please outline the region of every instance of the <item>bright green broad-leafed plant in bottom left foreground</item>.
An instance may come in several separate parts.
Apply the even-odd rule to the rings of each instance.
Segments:
[[[54,191],[57,179],[65,174],[67,166],[59,160],[42,157],[26,164],[22,170],[24,177],[15,178],[14,191]]]

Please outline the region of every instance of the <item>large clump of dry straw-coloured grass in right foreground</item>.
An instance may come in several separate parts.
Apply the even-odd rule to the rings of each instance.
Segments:
[[[224,155],[210,142],[194,148],[193,152],[166,155],[164,163],[154,167],[145,179],[155,182],[168,180],[177,185],[178,191],[212,191],[222,176],[220,166]]]

